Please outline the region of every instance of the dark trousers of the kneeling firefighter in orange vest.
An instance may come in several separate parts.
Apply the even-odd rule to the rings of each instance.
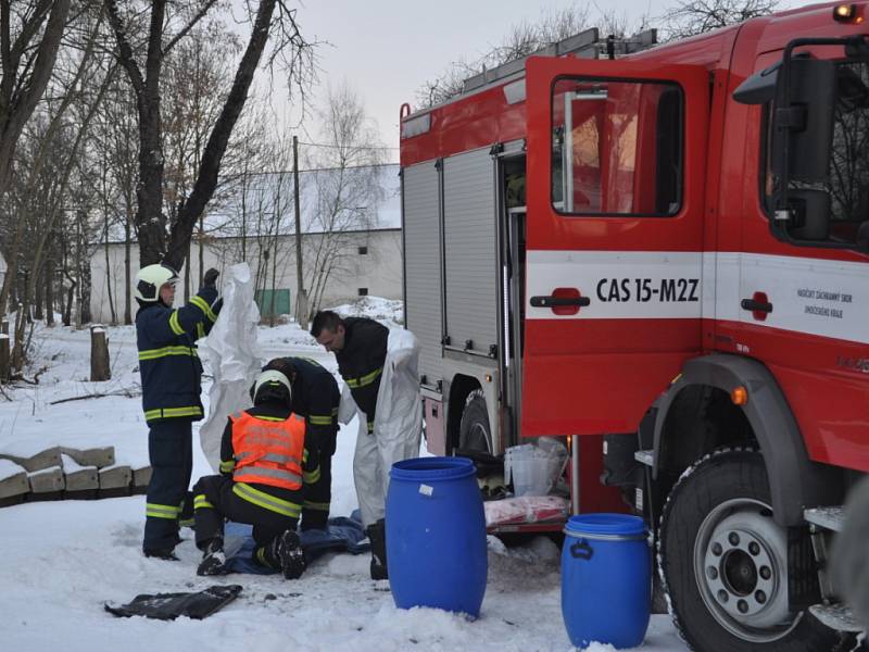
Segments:
[[[247,523],[253,526],[254,562],[276,567],[277,560],[267,551],[268,546],[285,530],[294,530],[298,518],[244,500],[232,491],[234,486],[231,477],[222,475],[204,476],[193,486],[197,548],[205,550],[213,539],[223,538],[225,519]]]

